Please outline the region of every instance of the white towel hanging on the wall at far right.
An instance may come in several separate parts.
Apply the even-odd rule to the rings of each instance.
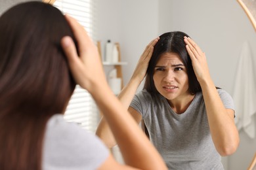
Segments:
[[[253,59],[249,42],[245,41],[240,54],[233,99],[236,108],[236,126],[244,129],[252,139],[255,137],[256,114],[256,73],[253,71]]]

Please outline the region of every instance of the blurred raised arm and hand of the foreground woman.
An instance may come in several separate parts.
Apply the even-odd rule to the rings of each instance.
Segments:
[[[66,19],[72,27],[79,50],[77,52],[70,37],[62,39],[62,48],[68,58],[72,75],[77,84],[93,95],[98,109],[114,134],[126,164],[121,165],[109,156],[98,169],[167,169],[156,148],[109,88],[98,50],[85,29],[74,18],[66,16]],[[152,49],[148,51],[146,56],[151,57]]]

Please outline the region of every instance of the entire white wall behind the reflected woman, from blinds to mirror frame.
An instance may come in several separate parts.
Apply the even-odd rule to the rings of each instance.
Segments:
[[[256,33],[235,0],[97,2],[98,39],[120,42],[121,58],[129,63],[123,67],[125,84],[146,44],[167,31],[188,33],[205,52],[216,86],[230,94],[244,41],[249,41],[256,63],[256,48],[253,48],[256,46]],[[246,169],[255,152],[256,139],[249,139],[244,131],[240,131],[240,146],[235,154],[228,156],[228,169]]]

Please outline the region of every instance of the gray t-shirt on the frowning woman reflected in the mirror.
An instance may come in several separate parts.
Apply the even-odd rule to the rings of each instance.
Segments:
[[[218,90],[226,109],[234,110],[232,97]],[[215,149],[202,92],[196,93],[188,109],[176,114],[162,95],[153,98],[146,90],[137,93],[131,107],[142,114],[150,140],[169,169],[223,169]]]

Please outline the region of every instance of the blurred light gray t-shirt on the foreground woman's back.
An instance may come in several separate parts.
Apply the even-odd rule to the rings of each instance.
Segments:
[[[43,170],[96,169],[109,156],[108,148],[94,134],[55,114],[47,123]]]

